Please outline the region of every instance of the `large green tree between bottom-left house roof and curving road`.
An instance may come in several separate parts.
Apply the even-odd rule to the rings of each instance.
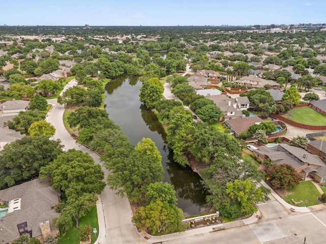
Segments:
[[[97,201],[94,194],[100,194],[105,187],[101,166],[95,164],[88,153],[69,149],[41,168],[40,178],[46,176],[52,177],[52,188],[60,189],[67,198],[68,204],[61,211],[62,218],[73,217],[78,228],[79,218],[85,216]]]

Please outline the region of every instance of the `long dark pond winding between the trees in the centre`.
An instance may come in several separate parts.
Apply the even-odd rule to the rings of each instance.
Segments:
[[[173,161],[173,153],[166,143],[166,133],[156,116],[139,101],[142,83],[137,77],[119,76],[105,86],[105,109],[109,118],[120,125],[129,141],[137,145],[150,138],[162,155],[164,181],[174,185],[178,207],[189,215],[198,214],[207,195],[201,178],[191,168],[183,168]]]

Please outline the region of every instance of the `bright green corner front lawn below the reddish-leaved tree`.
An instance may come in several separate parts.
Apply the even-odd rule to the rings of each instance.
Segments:
[[[291,199],[293,199],[295,202],[303,201],[302,204],[297,204],[296,206],[305,207],[320,204],[320,202],[317,200],[317,197],[320,196],[321,194],[318,192],[317,188],[312,182],[302,181],[299,185],[293,188],[291,194],[283,197],[283,199],[291,205],[294,205],[291,202]],[[308,203],[306,203],[306,200],[308,200]]]

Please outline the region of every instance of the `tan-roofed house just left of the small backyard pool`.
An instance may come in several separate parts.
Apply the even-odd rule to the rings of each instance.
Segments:
[[[250,116],[250,117],[239,117],[235,119],[227,120],[225,123],[231,129],[231,131],[238,136],[243,131],[247,131],[250,126],[256,123],[261,123],[263,120],[258,116]]]

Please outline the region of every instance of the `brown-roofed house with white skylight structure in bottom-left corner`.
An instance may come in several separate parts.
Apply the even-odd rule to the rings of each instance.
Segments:
[[[59,234],[51,223],[53,218],[60,217],[55,209],[60,193],[53,191],[48,179],[34,179],[3,189],[0,199],[9,204],[8,213],[0,221],[1,243],[17,240],[24,233],[41,241]]]

